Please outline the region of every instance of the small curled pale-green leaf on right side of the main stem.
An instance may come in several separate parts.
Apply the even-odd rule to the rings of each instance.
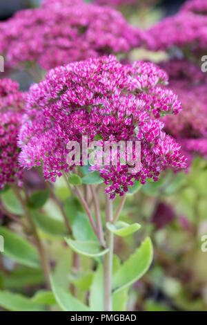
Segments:
[[[141,225],[139,225],[139,223],[132,223],[132,225],[129,225],[124,221],[117,221],[115,224],[106,223],[106,226],[108,230],[110,230],[110,232],[113,232],[117,236],[121,236],[121,237],[129,236],[130,234],[137,232],[137,230],[141,228]]]

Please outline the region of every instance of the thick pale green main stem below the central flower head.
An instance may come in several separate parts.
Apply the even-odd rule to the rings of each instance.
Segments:
[[[106,194],[106,222],[113,221],[112,201]],[[103,287],[104,287],[104,310],[112,311],[112,259],[114,249],[114,235],[106,228],[106,245],[109,252],[103,257]]]

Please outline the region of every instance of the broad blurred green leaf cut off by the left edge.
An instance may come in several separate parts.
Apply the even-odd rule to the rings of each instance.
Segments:
[[[0,227],[0,234],[4,238],[4,252],[2,254],[23,266],[40,267],[38,252],[31,243],[3,227]]]

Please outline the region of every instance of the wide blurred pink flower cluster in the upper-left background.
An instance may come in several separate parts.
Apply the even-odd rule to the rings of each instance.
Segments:
[[[146,37],[115,9],[81,0],[67,3],[52,1],[20,10],[0,24],[0,53],[8,66],[37,62],[48,70],[88,57],[126,53]]]

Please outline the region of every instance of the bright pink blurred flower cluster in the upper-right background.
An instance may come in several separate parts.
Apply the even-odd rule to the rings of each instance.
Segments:
[[[181,10],[148,30],[150,50],[180,48],[186,56],[198,55],[206,50],[207,16]]]

